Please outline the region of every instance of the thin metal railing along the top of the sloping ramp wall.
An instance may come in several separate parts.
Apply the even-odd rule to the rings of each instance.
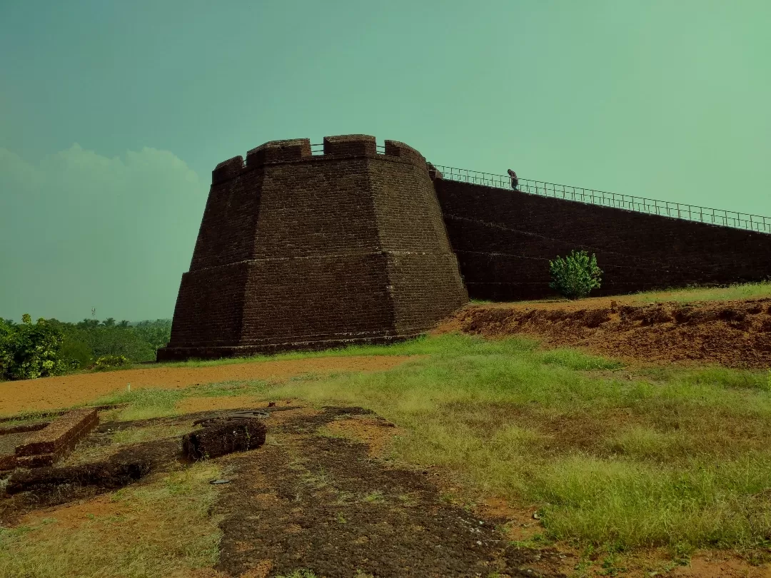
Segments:
[[[480,171],[476,170],[456,169],[453,166],[433,166],[447,180],[511,190],[511,179],[508,175],[480,173]],[[429,166],[430,170],[431,167]],[[634,197],[632,195],[607,193],[602,190],[547,183],[543,180],[520,179],[517,190],[543,197],[574,200],[578,203],[600,205],[601,207],[633,210],[638,213],[649,213],[662,217],[693,220],[699,223],[709,223],[722,227],[733,227],[771,234],[771,217],[760,215],[711,209],[709,207],[699,207],[684,203],[671,203],[665,200],[646,199],[645,197]]]

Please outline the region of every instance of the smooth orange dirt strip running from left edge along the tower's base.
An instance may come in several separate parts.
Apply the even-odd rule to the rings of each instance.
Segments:
[[[396,367],[408,356],[371,355],[361,357],[308,358],[288,361],[260,361],[202,368],[146,368],[108,371],[56,378],[5,381],[0,383],[0,416],[19,412],[66,408],[93,401],[127,384],[139,388],[187,388],[190,385],[245,379],[285,379],[305,373],[334,371],[382,371]]]

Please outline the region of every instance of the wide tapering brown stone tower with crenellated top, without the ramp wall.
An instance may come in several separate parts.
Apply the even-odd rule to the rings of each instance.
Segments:
[[[159,361],[387,343],[468,301],[426,160],[372,136],[217,165]]]

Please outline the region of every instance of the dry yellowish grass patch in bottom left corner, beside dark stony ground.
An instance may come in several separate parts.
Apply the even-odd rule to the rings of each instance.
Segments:
[[[214,566],[222,533],[208,480],[220,474],[204,462],[120,489],[109,494],[112,508],[86,511],[74,527],[53,517],[0,528],[0,576],[161,578]]]

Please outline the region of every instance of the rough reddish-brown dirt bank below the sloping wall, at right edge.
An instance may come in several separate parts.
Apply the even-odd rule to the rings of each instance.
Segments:
[[[625,304],[574,302],[469,305],[437,328],[488,338],[531,335],[631,362],[771,367],[771,298]]]

